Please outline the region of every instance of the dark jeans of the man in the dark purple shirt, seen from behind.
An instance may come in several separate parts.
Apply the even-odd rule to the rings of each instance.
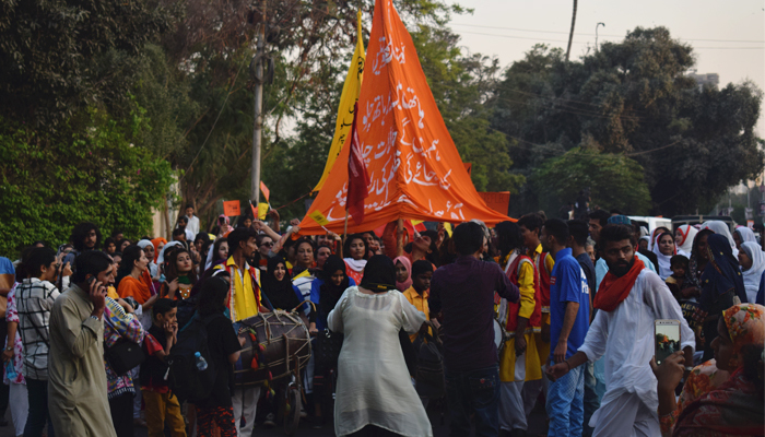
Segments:
[[[446,374],[449,435],[470,436],[470,416],[475,415],[475,436],[496,437],[499,432],[499,367]]]

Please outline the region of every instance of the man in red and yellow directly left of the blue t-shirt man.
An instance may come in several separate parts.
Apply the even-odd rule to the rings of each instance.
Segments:
[[[544,221],[539,214],[526,214],[518,220],[520,235],[523,238],[523,246],[527,249],[526,255],[531,258],[537,269],[534,277],[534,286],[539,288],[540,302],[542,307],[542,320],[540,331],[534,332],[534,342],[537,343],[537,353],[539,362],[543,365],[548,361],[550,351],[550,274],[553,271],[555,261],[550,253],[544,251],[542,243],[539,240],[539,234],[542,231]],[[526,417],[531,414],[539,393],[546,391],[548,380],[542,375],[542,378],[529,380],[523,383],[523,413]]]

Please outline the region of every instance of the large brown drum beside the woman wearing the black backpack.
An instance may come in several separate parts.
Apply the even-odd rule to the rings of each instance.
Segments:
[[[246,340],[234,368],[237,387],[296,374],[310,359],[310,336],[297,312],[259,314],[242,320],[238,332]]]

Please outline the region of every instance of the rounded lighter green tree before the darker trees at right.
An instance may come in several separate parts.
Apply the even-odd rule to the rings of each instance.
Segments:
[[[531,178],[546,211],[576,199],[590,188],[591,205],[619,209],[625,214],[645,215],[650,206],[643,167],[623,154],[600,153],[593,147],[574,147],[546,160]]]

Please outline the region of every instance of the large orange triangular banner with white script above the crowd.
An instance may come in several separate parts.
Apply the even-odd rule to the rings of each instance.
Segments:
[[[358,139],[369,174],[364,222],[374,229],[399,217],[435,222],[510,220],[481,199],[457,152],[412,38],[391,0],[376,0],[364,82],[358,98]],[[345,145],[348,144],[346,139]],[[301,223],[301,234],[342,233],[349,150],[343,145],[323,188]],[[319,212],[323,227],[311,216]]]

